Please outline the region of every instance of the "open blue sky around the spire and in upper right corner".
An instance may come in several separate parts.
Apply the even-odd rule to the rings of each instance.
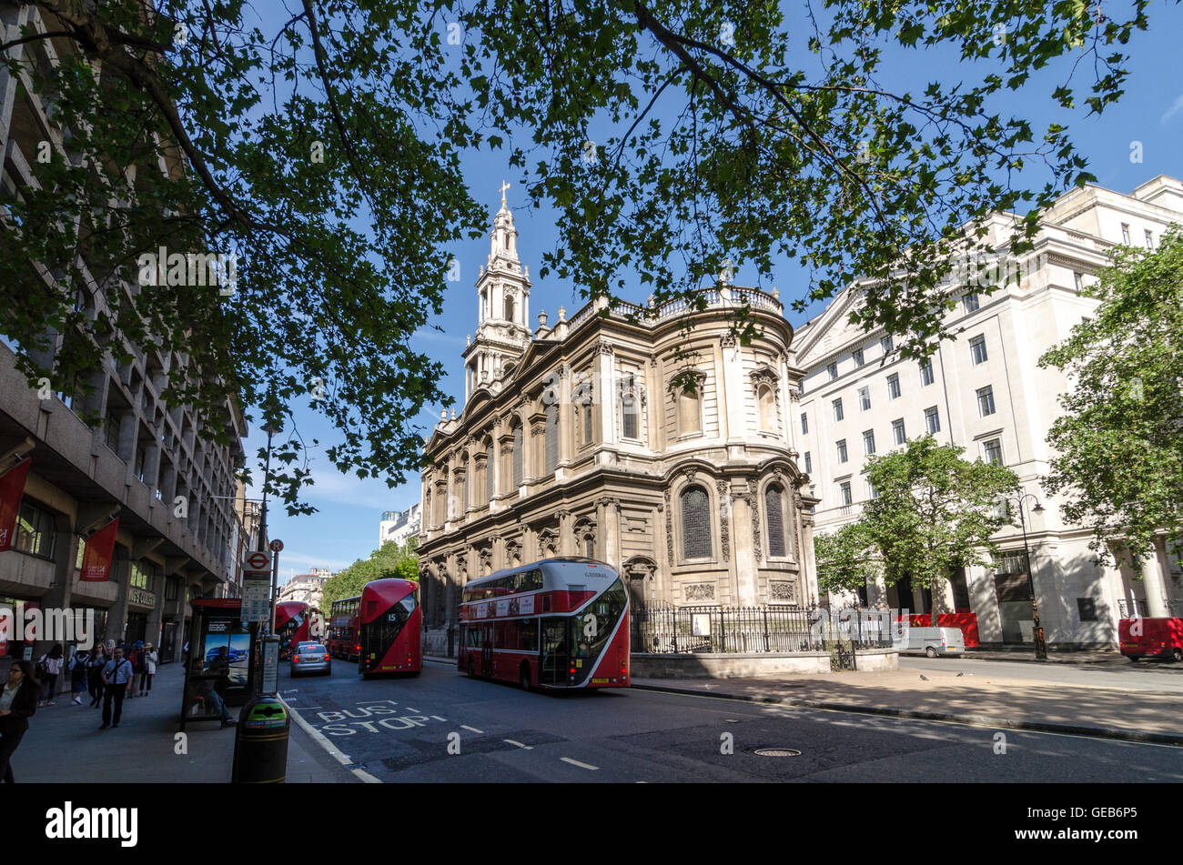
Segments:
[[[1183,76],[1179,74],[1183,64],[1179,60],[1179,33],[1183,33],[1183,7],[1175,4],[1155,5],[1151,9],[1151,30],[1136,34],[1127,46],[1131,53],[1130,77],[1126,92],[1118,104],[1108,108],[1100,118],[1086,119],[1084,111],[1056,117],[1072,130],[1073,142],[1087,158],[1090,170],[1101,186],[1129,193],[1158,174],[1183,177]],[[887,67],[894,66],[898,79],[913,91],[923,89],[923,82],[933,69],[944,71],[939,77],[944,83],[961,77],[956,64],[936,64],[931,58],[903,50],[885,54],[888,59]],[[981,70],[970,73],[974,78],[980,74]],[[995,106],[996,110],[1027,117],[1039,132],[1053,117],[1047,98],[1051,86],[1042,86],[1047,80],[1049,79],[1041,79],[1041,86],[1009,93],[1002,104]],[[1142,143],[1140,163],[1131,162],[1133,142]],[[471,152],[464,161],[464,169],[470,194],[485,202],[489,208],[490,226],[500,204],[498,187],[502,180],[512,184],[506,197],[518,228],[518,252],[523,264],[530,267],[531,275],[535,277],[530,294],[530,324],[536,323],[535,317],[542,310],[554,321],[560,305],[565,306],[569,313],[578,308],[583,301],[570,284],[552,278],[538,280],[536,277],[542,253],[554,248],[558,241],[555,216],[547,207],[537,210],[528,207],[517,174],[508,168],[505,151]],[[1040,178],[1035,186],[1041,186],[1042,180],[1045,178]],[[412,338],[414,349],[444,364],[447,378],[442,388],[455,397],[458,410],[464,399],[460,352],[465,346],[465,334],[473,333],[477,323],[473,282],[478,266],[485,262],[487,253],[487,236],[458,246],[455,258],[460,262],[461,279],[459,282],[445,284],[444,314],[433,321],[440,330],[424,329]],[[755,285],[756,277],[741,268],[736,273],[736,281],[741,285]],[[780,288],[784,299],[790,299],[796,297],[794,287],[804,285],[803,271],[795,262],[784,261],[771,282]],[[642,299],[639,288],[634,299]],[[789,312],[789,321],[797,326],[821,308],[822,305],[815,305],[803,314]],[[440,407],[437,405],[422,412],[425,434],[431,432],[439,411]],[[306,490],[308,500],[319,512],[311,516],[292,518],[282,507],[269,508],[270,534],[283,539],[285,544],[280,557],[280,581],[286,581],[291,573],[303,573],[312,566],[338,570],[355,559],[364,558],[377,545],[382,512],[407,508],[419,501],[420,495],[418,473],[412,473],[407,482],[394,489],[387,488],[382,480],[360,481],[341,475],[323,455],[324,448],[334,437],[328,424],[308,410],[297,411],[296,421],[306,442],[312,438],[321,441],[312,451],[316,483]],[[265,436],[252,429],[246,442],[247,454],[253,455],[264,442]]]

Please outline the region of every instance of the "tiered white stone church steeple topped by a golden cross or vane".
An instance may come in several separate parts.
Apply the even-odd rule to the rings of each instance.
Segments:
[[[530,269],[517,255],[513,214],[505,204],[493,217],[489,262],[477,277],[477,338],[464,350],[465,401],[510,371],[530,344]]]

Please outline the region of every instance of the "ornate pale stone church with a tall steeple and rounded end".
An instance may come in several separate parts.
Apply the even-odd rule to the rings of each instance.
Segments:
[[[789,423],[801,373],[775,293],[724,286],[703,311],[595,303],[570,319],[560,306],[531,331],[516,239],[503,197],[465,404],[425,444],[428,624],[455,617],[467,580],[555,555],[612,564],[636,604],[813,600],[814,500]],[[722,314],[742,304],[762,330],[750,345]]]

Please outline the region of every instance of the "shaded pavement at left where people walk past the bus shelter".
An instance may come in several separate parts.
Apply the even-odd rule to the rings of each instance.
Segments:
[[[123,701],[119,727],[99,730],[102,708],[71,703],[58,694],[56,705],[38,709],[12,757],[18,782],[228,783],[234,757],[234,728],[214,721],[177,730],[185,672],[166,664],[147,697]],[[238,707],[230,707],[237,717]],[[287,740],[287,782],[357,782],[296,723]]]

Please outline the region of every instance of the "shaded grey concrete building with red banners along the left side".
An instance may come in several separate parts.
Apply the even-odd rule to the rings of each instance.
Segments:
[[[0,41],[19,39],[25,27],[30,33],[54,28],[35,6],[6,5]],[[8,57],[52,59],[37,54],[38,45],[15,45]],[[46,113],[52,103],[21,93],[18,84],[30,89],[22,74],[0,66],[0,182],[18,195],[37,183],[31,167],[39,144],[49,141],[64,152],[62,130]],[[89,281],[95,292],[85,299],[85,312],[95,320],[110,311],[112,290],[124,287],[93,275]],[[62,340],[59,334],[43,362],[52,362]],[[206,441],[193,411],[160,398],[168,371],[188,368],[189,358],[129,347],[129,363],[108,355],[88,376],[92,391],[79,396],[30,388],[9,345],[0,344],[0,471],[32,458],[15,544],[0,553],[0,603],[92,610],[99,638],[150,640],[168,661],[180,657],[188,601],[225,593],[232,578],[234,470],[246,424],[228,402],[214,422],[233,444]],[[89,412],[102,418],[98,425],[80,420]],[[110,580],[79,581],[83,540],[114,516],[119,522]],[[33,652],[47,648],[38,643]],[[12,653],[26,649],[19,640],[8,644]]]

